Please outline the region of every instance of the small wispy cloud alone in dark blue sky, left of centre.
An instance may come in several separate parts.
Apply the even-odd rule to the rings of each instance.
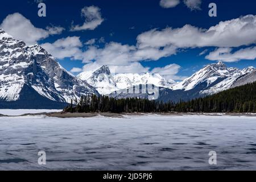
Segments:
[[[84,24],[82,24],[82,26],[72,26],[71,31],[94,30],[96,27],[100,26],[104,21],[101,17],[100,10],[101,9],[97,6],[85,6],[81,10],[81,16],[85,18]]]

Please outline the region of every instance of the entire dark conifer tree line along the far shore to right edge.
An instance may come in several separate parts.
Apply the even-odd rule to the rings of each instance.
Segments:
[[[108,96],[81,96],[64,111],[78,113],[95,112],[237,112],[256,113],[256,82],[197,98],[188,102],[163,102],[144,98],[115,99]]]

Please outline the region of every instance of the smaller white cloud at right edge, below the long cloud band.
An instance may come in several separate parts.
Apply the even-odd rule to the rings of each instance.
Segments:
[[[235,52],[232,52],[232,50],[232,48],[218,48],[215,51],[210,52],[205,59],[225,62],[256,59],[256,47],[238,49],[238,51]]]

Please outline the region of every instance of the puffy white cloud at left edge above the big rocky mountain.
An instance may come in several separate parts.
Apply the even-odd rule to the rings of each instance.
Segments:
[[[29,19],[19,13],[6,16],[0,27],[15,39],[23,40],[28,45],[35,44],[49,35],[60,34],[64,30],[54,26],[47,27],[46,30],[36,28]]]

